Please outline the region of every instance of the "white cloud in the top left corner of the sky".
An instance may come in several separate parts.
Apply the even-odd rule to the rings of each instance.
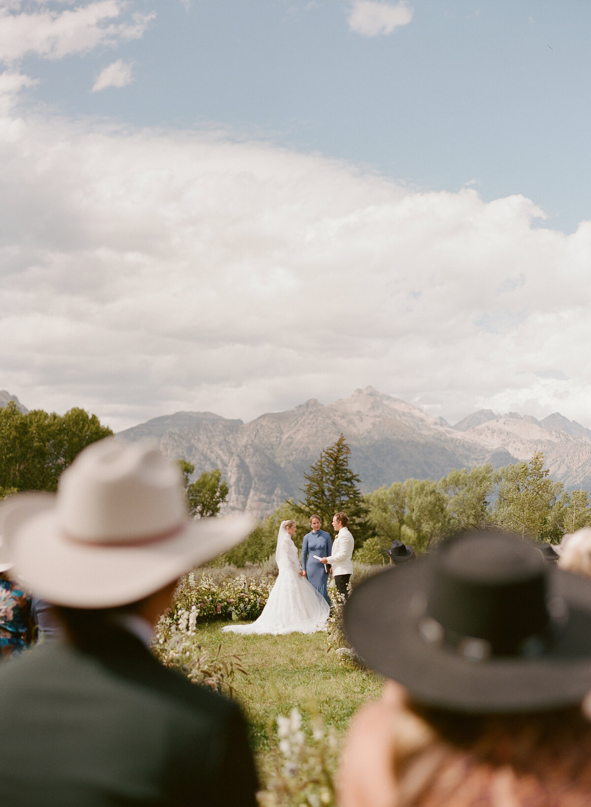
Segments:
[[[118,22],[124,0],[95,0],[65,10],[53,2],[47,5],[37,2],[38,10],[29,12],[22,10],[20,2],[0,2],[0,62],[14,65],[31,53],[61,59],[98,45],[138,39],[155,17],[135,14]]]

